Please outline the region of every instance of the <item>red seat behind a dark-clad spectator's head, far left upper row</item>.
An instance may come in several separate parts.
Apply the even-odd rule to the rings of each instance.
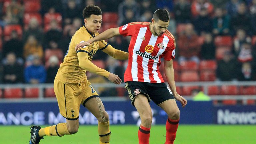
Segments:
[[[18,36],[21,38],[22,36],[22,27],[20,25],[7,25],[4,27],[4,40],[7,41],[10,39],[11,32],[13,30],[16,30],[18,33]]]

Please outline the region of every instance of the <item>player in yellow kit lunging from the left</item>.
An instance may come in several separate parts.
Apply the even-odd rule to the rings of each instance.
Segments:
[[[89,5],[85,7],[83,10],[85,25],[76,31],[72,37],[64,62],[60,65],[54,80],[54,92],[60,114],[66,118],[67,122],[46,128],[32,126],[30,144],[38,144],[46,135],[63,136],[76,133],[79,127],[80,104],[98,119],[100,144],[109,144],[111,131],[109,130],[108,114],[98,93],[87,80],[85,72],[89,71],[105,76],[109,81],[120,84],[122,81],[117,75],[97,67],[91,60],[97,50],[102,50],[120,60],[128,59],[128,53],[113,48],[104,40],[75,51],[77,44],[88,41],[99,34],[98,30],[102,22],[101,14],[101,9],[98,6]]]

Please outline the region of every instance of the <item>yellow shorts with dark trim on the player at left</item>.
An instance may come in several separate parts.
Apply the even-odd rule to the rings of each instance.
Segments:
[[[85,79],[84,83],[69,85],[55,78],[54,92],[58,101],[60,114],[68,120],[78,119],[80,104],[84,106],[89,99],[99,97],[99,94],[87,79]]]

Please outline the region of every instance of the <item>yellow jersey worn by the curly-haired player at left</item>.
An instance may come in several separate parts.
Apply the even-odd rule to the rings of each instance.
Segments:
[[[99,33],[90,33],[85,26],[81,27],[73,35],[67,53],[65,54],[63,63],[60,64],[60,68],[56,75],[56,78],[65,84],[80,84],[86,79],[86,70],[79,66],[77,52],[75,50],[76,44],[84,41],[88,41],[93,37],[99,35]],[[92,43],[90,46],[83,49],[84,52],[88,53],[88,60],[92,60],[97,50],[104,50],[107,47],[112,47],[108,43],[98,41]],[[112,47],[113,48],[113,47]],[[109,48],[111,49],[111,48]]]

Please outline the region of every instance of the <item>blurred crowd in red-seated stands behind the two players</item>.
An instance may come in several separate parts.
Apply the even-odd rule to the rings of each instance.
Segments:
[[[151,22],[156,9],[167,9],[168,30],[177,43],[176,81],[256,80],[256,0],[0,0],[0,83],[53,83],[72,36],[84,23],[82,10],[90,4],[103,11],[100,32]],[[127,52],[129,41],[107,42]],[[122,79],[127,65],[101,51],[93,63]]]

